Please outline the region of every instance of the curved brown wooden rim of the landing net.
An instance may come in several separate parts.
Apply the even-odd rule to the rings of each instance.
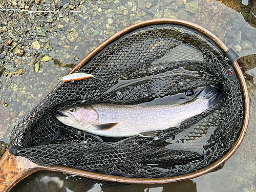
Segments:
[[[220,39],[218,39],[214,34],[212,34],[208,30],[206,30],[206,29],[204,29],[204,28],[202,28],[202,27],[200,27],[196,24],[186,22],[184,20],[178,20],[178,19],[168,19],[168,18],[152,19],[152,20],[147,20],[147,21],[144,21],[144,22],[134,24],[134,25],[129,26],[129,27],[119,31],[118,33],[114,34],[109,39],[102,42],[102,44],[100,44],[95,50],[93,50],[91,53],[89,53],[86,57],[84,57],[70,71],[69,74],[74,73],[79,68],[86,65],[88,63],[88,61],[92,57],[94,57],[97,53],[99,53],[103,48],[105,48],[106,46],[111,44],[114,40],[118,39],[119,37],[123,36],[124,34],[129,33],[129,32],[131,32],[135,29],[145,27],[145,26],[149,26],[149,25],[154,25],[154,24],[155,25],[157,25],[157,24],[171,24],[171,25],[178,25],[178,26],[184,26],[184,27],[190,28],[192,30],[198,31],[199,33],[203,34],[205,37],[214,41],[216,46],[218,46],[218,48],[221,51],[226,52],[228,50],[228,48],[223,44],[223,42]],[[101,174],[101,173],[92,173],[92,172],[87,172],[87,171],[84,171],[84,170],[74,169],[74,168],[65,167],[65,166],[46,166],[45,167],[45,166],[39,166],[39,165],[37,166],[35,164],[35,166],[33,167],[33,171],[28,170],[26,173],[23,174],[23,176],[20,176],[19,178],[17,178],[16,182],[25,178],[25,177],[27,177],[32,172],[35,172],[37,170],[53,170],[53,171],[57,171],[57,172],[65,172],[65,173],[69,173],[69,174],[72,174],[72,175],[78,175],[78,176],[92,178],[92,179],[98,179],[98,180],[105,180],[105,181],[112,181],[112,182],[122,182],[122,183],[140,183],[140,184],[161,184],[161,183],[170,183],[170,182],[182,181],[182,180],[187,180],[187,179],[193,179],[195,177],[198,177],[198,176],[201,176],[201,175],[204,175],[204,174],[210,172],[211,170],[213,170],[213,169],[219,167],[221,164],[223,164],[228,158],[230,158],[233,155],[234,152],[237,151],[239,145],[241,144],[241,142],[242,142],[242,140],[245,136],[247,126],[248,126],[248,121],[249,121],[249,96],[248,96],[248,91],[247,91],[245,79],[244,79],[244,76],[242,74],[242,71],[241,71],[237,61],[234,61],[232,63],[232,67],[234,68],[234,72],[236,73],[236,75],[239,79],[240,85],[241,85],[242,97],[243,97],[243,101],[244,101],[244,117],[243,117],[242,127],[241,127],[241,130],[238,133],[236,141],[234,141],[234,143],[232,144],[229,151],[223,157],[221,157],[220,159],[218,159],[214,163],[211,163],[210,165],[208,165],[204,168],[201,168],[199,170],[196,170],[195,172],[191,172],[189,174],[173,176],[173,177],[162,177],[162,178],[126,178],[126,177],[121,177],[121,176],[105,175],[105,174]],[[7,152],[5,154],[5,157],[9,157],[8,154],[9,153]],[[13,156],[13,158],[14,158],[14,156]],[[12,183],[11,185],[14,186],[15,184]],[[12,186],[9,186],[9,189]]]

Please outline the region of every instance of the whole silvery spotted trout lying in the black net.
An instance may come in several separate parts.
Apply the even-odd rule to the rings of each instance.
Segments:
[[[153,137],[148,133],[179,126],[222,99],[217,88],[206,87],[196,98],[182,104],[78,104],[59,111],[55,117],[63,124],[98,136]]]

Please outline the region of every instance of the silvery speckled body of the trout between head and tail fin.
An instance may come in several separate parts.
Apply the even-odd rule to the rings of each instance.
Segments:
[[[91,105],[99,114],[98,124],[118,122],[111,129],[98,130],[91,126],[86,131],[108,137],[129,137],[143,132],[166,130],[179,126],[184,120],[199,115],[208,108],[206,98],[188,104],[173,105]]]

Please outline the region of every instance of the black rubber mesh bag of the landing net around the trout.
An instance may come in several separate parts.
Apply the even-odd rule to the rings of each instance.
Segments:
[[[9,142],[12,154],[40,165],[67,165],[108,175],[170,177],[222,157],[241,128],[239,81],[222,51],[194,30],[177,25],[137,29],[105,47],[79,72],[95,78],[56,87],[14,127]],[[123,142],[103,138],[102,142],[55,118],[59,110],[80,103],[161,102],[207,86],[222,90],[224,99],[179,127],[157,131],[157,140],[137,136]],[[175,139],[175,145],[170,144]]]

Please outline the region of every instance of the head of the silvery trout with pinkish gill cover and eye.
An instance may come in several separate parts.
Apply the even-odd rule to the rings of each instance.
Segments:
[[[55,116],[60,122],[77,129],[86,130],[97,124],[99,115],[90,105],[71,106]]]

